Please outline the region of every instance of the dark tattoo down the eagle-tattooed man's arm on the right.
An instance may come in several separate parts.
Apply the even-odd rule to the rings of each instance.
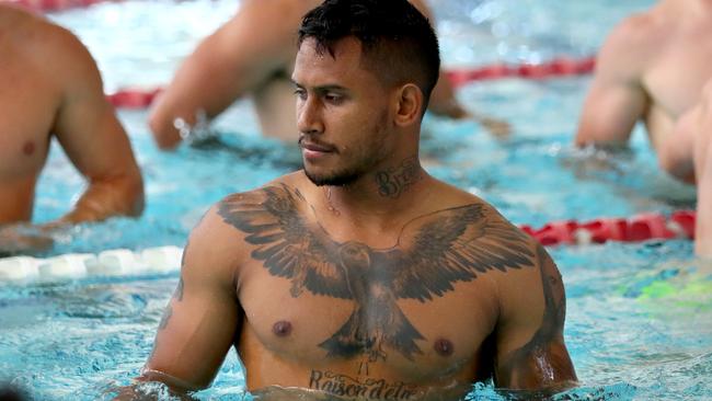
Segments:
[[[510,386],[533,388],[576,380],[573,364],[563,346],[566,296],[561,274],[541,247],[537,245],[537,265],[540,270],[544,298],[541,326],[528,343],[503,360],[497,381]]]

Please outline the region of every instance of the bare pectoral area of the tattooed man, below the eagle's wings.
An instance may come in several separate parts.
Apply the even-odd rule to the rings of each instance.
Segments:
[[[289,280],[260,275],[240,290],[243,332],[300,366],[429,381],[476,365],[497,310],[484,283],[459,283],[448,294],[415,300],[369,282],[360,285],[363,294],[340,298],[296,294]]]

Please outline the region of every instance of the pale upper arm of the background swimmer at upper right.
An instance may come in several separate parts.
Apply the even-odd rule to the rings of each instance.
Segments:
[[[576,144],[624,145],[644,115],[647,95],[643,72],[648,58],[645,16],[623,22],[601,47],[584,102]]]

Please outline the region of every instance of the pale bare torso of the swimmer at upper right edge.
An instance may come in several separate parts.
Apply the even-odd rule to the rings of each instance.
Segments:
[[[668,0],[643,18],[645,124],[657,148],[712,78],[712,2]]]

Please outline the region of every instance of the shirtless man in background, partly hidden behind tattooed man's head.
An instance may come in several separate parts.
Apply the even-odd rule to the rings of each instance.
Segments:
[[[294,107],[289,73],[295,62],[295,32],[303,14],[321,1],[241,2],[240,11],[200,43],[157,100],[149,126],[158,146],[173,149],[181,142],[176,118],[186,126],[195,126],[198,113],[204,113],[207,123],[245,95],[252,96],[262,133],[290,140],[297,123],[294,114],[285,111]],[[413,4],[426,14],[429,12],[423,0],[413,0]],[[509,130],[506,123],[466,112],[445,76],[433,93],[429,110],[453,118],[469,115],[495,135],[504,136]]]

